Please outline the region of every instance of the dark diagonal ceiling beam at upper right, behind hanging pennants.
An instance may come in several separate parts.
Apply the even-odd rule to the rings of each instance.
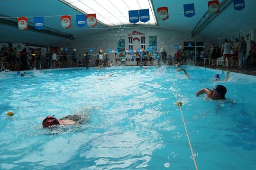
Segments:
[[[191,32],[192,37],[195,37],[197,34],[199,34],[205,26],[207,26],[215,17],[217,17],[222,11],[224,11],[224,9],[226,9],[232,2],[233,0],[223,0],[219,4],[220,12],[217,14],[210,14],[209,11],[207,11]]]

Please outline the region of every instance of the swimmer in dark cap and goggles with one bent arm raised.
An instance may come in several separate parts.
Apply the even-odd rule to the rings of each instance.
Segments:
[[[209,88],[203,88],[196,93],[196,96],[202,93],[206,93],[207,97],[212,100],[221,100],[225,99],[227,88],[223,85],[216,85],[212,90],[210,90]]]

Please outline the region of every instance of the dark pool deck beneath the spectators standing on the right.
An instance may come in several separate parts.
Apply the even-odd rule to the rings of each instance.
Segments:
[[[256,76],[256,68],[223,68],[218,66],[200,66],[204,68],[212,68],[212,69],[219,69],[224,71],[230,71],[235,73],[242,73],[247,75]]]

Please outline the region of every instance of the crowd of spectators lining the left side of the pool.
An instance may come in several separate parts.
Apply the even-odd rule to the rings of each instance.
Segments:
[[[47,69],[47,68],[65,68],[73,66],[81,66],[82,63],[90,62],[90,55],[87,52],[85,55],[72,54],[72,59],[68,60],[66,52],[59,53],[58,51],[50,51],[42,54],[41,51],[27,51],[24,48],[22,51],[17,51],[14,47],[1,48],[0,51],[0,68],[1,70],[9,69],[12,71],[27,70],[27,69]]]

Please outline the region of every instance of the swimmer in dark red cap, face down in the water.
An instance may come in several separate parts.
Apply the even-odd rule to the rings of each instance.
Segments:
[[[61,119],[56,119],[54,116],[47,116],[43,120],[43,127],[52,127],[54,125],[79,125],[85,121],[85,116],[82,114],[68,115]]]

